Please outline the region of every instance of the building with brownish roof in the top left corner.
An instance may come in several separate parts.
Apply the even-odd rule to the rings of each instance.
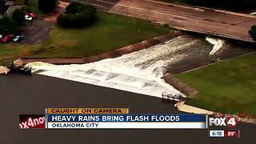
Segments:
[[[0,0],[0,18],[4,16],[11,17],[14,10],[24,8],[25,6],[15,5],[14,0]]]

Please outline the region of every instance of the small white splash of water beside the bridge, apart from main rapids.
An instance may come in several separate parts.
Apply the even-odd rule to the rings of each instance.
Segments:
[[[214,45],[213,50],[210,51],[210,55],[216,54],[219,50],[221,50],[225,44],[225,41],[218,38],[210,38],[206,37],[206,41],[210,42],[212,45]]]

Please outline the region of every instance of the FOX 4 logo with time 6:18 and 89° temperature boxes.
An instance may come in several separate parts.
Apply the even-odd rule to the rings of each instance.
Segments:
[[[235,117],[209,118],[209,130],[211,138],[240,138],[240,130],[235,129],[238,119]],[[230,130],[231,129],[231,130]]]

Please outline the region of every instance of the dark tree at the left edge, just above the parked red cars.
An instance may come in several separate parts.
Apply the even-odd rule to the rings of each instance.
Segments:
[[[0,32],[3,34],[10,34],[16,32],[16,25],[14,20],[8,17],[0,19]]]

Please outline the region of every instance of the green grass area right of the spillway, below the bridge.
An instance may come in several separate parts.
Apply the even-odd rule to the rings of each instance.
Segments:
[[[256,53],[176,74],[198,94],[188,104],[222,113],[256,115]]]

